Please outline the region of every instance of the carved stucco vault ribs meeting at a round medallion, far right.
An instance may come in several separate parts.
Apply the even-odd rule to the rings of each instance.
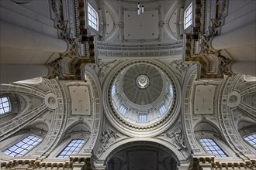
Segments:
[[[221,104],[220,109],[218,110],[218,116],[220,121],[220,128],[223,131],[223,134],[229,144],[236,148],[237,153],[242,153],[244,156],[253,155],[253,153],[250,151],[250,149],[247,148],[247,146],[244,143],[244,140],[241,138],[239,131],[237,131],[237,119],[240,119],[240,117],[235,117],[234,121],[234,115],[233,111],[234,108],[240,108],[242,112],[244,112],[244,115],[247,115],[247,117],[251,117],[255,120],[256,110],[248,107],[245,104],[241,104],[240,100],[237,103],[237,97],[240,97],[241,93],[254,93],[254,89],[256,89],[255,85],[252,85],[251,87],[247,87],[244,90],[235,91],[237,88],[237,85],[241,82],[240,80],[243,78],[243,76],[232,76],[232,77],[226,77],[223,81],[223,86],[220,90],[220,98],[219,103]],[[250,84],[248,84],[250,85]],[[250,89],[250,90],[248,90]],[[253,89],[253,90],[252,90]],[[235,97],[234,97],[235,96]],[[230,99],[231,98],[231,99]],[[235,104],[235,105],[234,105]],[[239,154],[240,155],[240,154]]]

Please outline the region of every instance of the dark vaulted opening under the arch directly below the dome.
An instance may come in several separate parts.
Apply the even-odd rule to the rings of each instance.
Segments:
[[[123,156],[123,154],[125,155]],[[172,163],[171,165],[168,165],[168,168],[171,167],[171,169],[175,169],[177,168],[177,165],[179,165],[177,156],[170,148],[154,141],[130,141],[126,144],[119,145],[119,147],[111,151],[106,158],[105,163],[107,166],[113,158],[122,158],[122,160],[119,159],[119,162],[129,161],[129,165],[123,164],[123,167],[120,166],[118,169],[123,169],[124,166],[132,168],[131,166],[133,165],[137,165],[137,168],[146,168],[141,167],[141,165],[147,167],[152,165],[152,169],[165,169],[164,165],[167,162]],[[140,158],[140,160],[137,160],[137,158]]]

